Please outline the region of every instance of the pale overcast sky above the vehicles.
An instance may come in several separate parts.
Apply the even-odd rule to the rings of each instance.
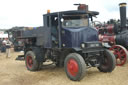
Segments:
[[[0,0],[0,29],[10,29],[14,26],[43,26],[43,14],[51,12],[76,10],[75,3],[87,4],[90,11],[100,14],[96,21],[119,19],[119,3],[128,0]]]

